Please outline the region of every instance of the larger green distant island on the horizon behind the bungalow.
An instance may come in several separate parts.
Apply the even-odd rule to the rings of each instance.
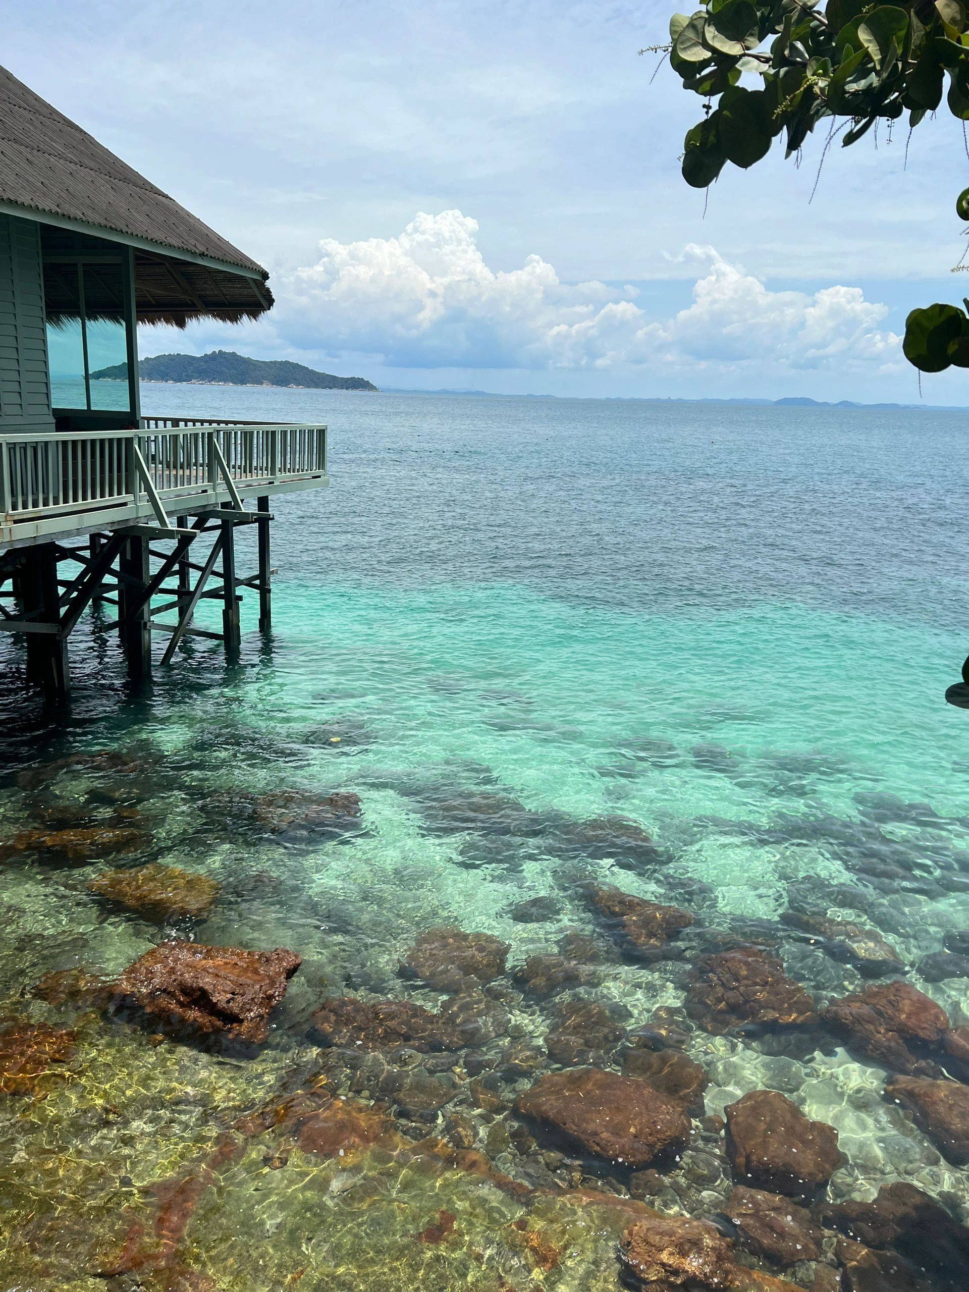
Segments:
[[[288,359],[248,359],[234,350],[209,354],[155,354],[138,363],[142,381],[174,381],[194,386],[288,386],[297,390],[376,390],[363,377],[335,377]],[[92,381],[127,381],[128,364],[92,372]]]

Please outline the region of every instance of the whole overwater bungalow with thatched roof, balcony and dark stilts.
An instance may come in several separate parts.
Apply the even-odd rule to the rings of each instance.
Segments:
[[[133,677],[152,633],[164,662],[189,634],[235,650],[240,588],[269,629],[269,499],[327,483],[326,426],[143,417],[137,340],[138,323],[256,319],[266,279],[0,68],[0,630],[49,693],[70,690],[68,638],[94,599],[116,606]],[[54,354],[75,381],[52,388]],[[92,379],[118,363],[127,382]],[[239,525],[258,526],[251,578]],[[193,623],[203,597],[221,599],[221,633]]]

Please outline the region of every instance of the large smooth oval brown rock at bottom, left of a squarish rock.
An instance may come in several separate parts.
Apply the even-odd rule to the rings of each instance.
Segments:
[[[548,1072],[514,1106],[589,1152],[628,1167],[682,1149],[690,1136],[682,1103],[645,1081],[594,1067]]]

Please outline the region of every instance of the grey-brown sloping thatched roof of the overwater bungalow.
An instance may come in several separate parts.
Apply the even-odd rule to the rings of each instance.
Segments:
[[[0,205],[58,235],[134,247],[138,319],[235,322],[273,304],[261,265],[0,67]]]

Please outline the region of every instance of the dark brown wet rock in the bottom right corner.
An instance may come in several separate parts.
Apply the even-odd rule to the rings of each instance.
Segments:
[[[915,1185],[882,1185],[872,1202],[827,1207],[823,1220],[866,1247],[894,1248],[943,1287],[969,1287],[969,1229]]]

